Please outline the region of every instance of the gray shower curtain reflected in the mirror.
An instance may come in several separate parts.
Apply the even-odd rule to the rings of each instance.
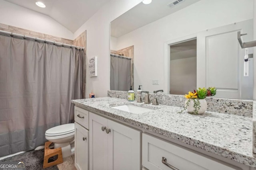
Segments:
[[[110,90],[128,91],[131,86],[131,60],[110,56]]]

